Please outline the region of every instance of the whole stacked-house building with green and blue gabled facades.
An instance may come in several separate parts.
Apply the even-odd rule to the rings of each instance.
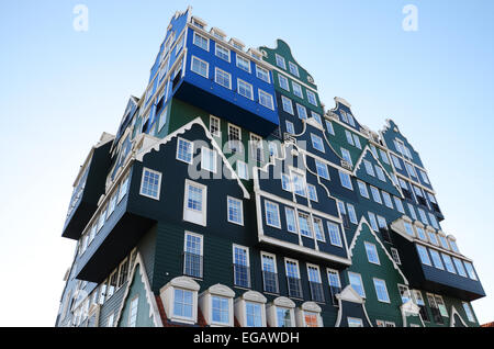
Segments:
[[[177,12],[76,178],[56,326],[479,326],[418,153],[335,102],[283,41]]]

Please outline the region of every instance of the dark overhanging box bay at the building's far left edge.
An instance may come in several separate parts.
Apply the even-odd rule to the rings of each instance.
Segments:
[[[110,148],[113,138],[103,134],[102,140],[89,153],[78,176],[69,212],[61,236],[79,239],[82,230],[98,209],[98,200],[104,194],[106,173],[111,166]]]

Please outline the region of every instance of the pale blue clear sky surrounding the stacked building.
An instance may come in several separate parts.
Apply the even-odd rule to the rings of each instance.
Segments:
[[[89,31],[72,26],[76,4]],[[404,5],[418,9],[405,32]],[[60,237],[79,166],[141,97],[175,11],[248,47],[287,41],[334,97],[381,130],[393,119],[417,149],[474,260],[494,320],[494,1],[16,0],[0,2],[0,326],[53,326],[75,243]]]

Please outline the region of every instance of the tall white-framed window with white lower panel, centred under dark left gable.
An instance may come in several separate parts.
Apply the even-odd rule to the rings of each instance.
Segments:
[[[183,219],[206,225],[206,187],[186,180]]]

